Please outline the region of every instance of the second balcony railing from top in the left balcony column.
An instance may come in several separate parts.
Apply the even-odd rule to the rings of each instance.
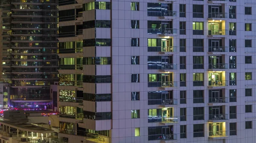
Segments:
[[[159,36],[176,35],[177,29],[165,28],[165,29],[148,29],[148,34],[158,34]]]

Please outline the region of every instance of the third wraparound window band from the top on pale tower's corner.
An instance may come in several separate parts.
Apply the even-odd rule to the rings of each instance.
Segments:
[[[84,39],[83,46],[111,46],[111,39]]]

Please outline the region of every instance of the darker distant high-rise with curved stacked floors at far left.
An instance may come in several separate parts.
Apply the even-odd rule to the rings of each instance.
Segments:
[[[50,109],[49,87],[58,81],[58,0],[0,2],[1,79],[8,105]]]

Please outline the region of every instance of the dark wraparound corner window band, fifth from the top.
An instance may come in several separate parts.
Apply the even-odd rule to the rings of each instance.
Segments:
[[[83,76],[84,82],[87,83],[111,83],[111,76]]]

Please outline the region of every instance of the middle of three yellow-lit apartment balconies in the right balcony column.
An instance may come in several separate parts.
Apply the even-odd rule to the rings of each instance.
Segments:
[[[209,72],[208,76],[209,86],[225,86],[227,84],[224,71]]]

